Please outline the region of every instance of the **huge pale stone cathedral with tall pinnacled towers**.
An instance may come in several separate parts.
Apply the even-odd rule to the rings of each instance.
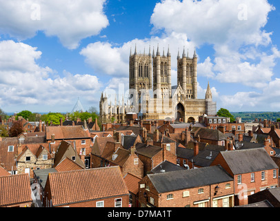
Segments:
[[[126,122],[127,113],[136,113],[138,119],[165,119],[175,122],[198,122],[201,115],[216,115],[216,102],[208,83],[205,99],[197,98],[197,54],[189,57],[183,48],[177,56],[177,85],[171,85],[171,54],[152,51],[134,53],[130,49],[129,95],[114,104],[102,93],[99,102],[102,123]]]

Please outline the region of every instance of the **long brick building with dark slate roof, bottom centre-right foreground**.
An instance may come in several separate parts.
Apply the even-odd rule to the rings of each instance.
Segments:
[[[232,207],[233,178],[221,166],[146,175],[139,182],[142,207]]]

